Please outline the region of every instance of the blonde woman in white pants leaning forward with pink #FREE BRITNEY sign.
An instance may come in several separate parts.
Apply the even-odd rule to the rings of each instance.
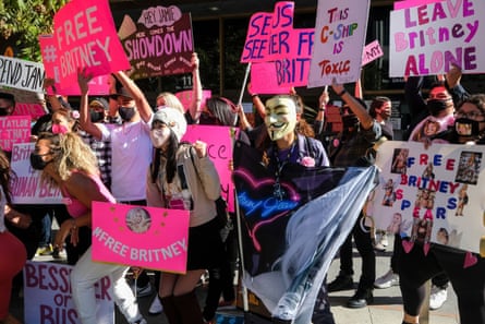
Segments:
[[[85,101],[83,98],[82,105]],[[60,225],[56,248],[61,248],[69,235],[71,242],[74,245],[77,243],[78,228],[90,226],[94,201],[116,203],[99,178],[96,156],[75,133],[40,133],[35,151],[31,154],[31,165],[34,169],[41,170],[41,181],[60,188],[69,214],[73,217]],[[114,302],[128,322],[146,323],[124,279],[128,269],[128,266],[93,262],[92,248],[77,261],[71,273],[71,288],[83,324],[99,322],[96,319],[95,283],[105,276],[110,277]]]

